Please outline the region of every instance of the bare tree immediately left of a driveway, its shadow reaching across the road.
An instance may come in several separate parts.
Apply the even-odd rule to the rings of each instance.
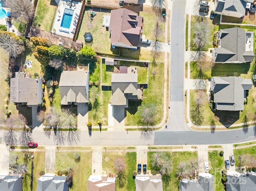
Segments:
[[[72,113],[70,110],[62,109],[61,121],[64,126],[68,126],[68,134],[66,139],[69,144],[77,144],[77,142],[80,140],[80,132],[75,126],[75,117],[75,114]]]

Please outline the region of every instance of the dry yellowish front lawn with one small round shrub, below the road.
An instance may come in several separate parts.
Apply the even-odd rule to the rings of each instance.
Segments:
[[[80,161],[74,160],[76,152],[56,152],[56,171],[66,170],[72,166],[74,170],[73,186],[70,191],[87,191],[87,179],[92,172],[92,152],[78,152]]]

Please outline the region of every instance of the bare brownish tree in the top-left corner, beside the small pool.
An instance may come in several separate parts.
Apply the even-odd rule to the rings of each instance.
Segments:
[[[12,10],[14,19],[22,18],[28,22],[34,16],[34,8],[31,0],[8,0],[7,6]]]

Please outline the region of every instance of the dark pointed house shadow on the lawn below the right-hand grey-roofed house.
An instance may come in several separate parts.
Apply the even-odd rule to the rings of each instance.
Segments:
[[[220,118],[220,123],[222,123],[226,128],[229,128],[239,119],[239,111],[220,111],[217,110],[214,112],[215,116]]]

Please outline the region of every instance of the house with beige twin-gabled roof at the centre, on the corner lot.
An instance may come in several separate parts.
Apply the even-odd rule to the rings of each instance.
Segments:
[[[128,100],[141,100],[136,73],[113,73],[111,76],[111,105],[128,107]]]

